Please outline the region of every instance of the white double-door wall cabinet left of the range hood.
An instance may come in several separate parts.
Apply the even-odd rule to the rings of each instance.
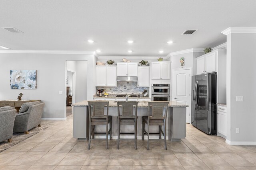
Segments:
[[[116,66],[96,66],[96,86],[116,86]]]

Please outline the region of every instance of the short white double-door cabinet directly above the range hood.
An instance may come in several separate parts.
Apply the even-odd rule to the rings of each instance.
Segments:
[[[138,76],[138,63],[117,63],[117,76]]]

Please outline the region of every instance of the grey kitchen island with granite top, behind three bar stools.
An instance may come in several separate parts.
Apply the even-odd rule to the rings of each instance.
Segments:
[[[106,102],[106,100],[104,100]],[[148,115],[148,102],[140,101],[138,103],[138,126],[137,139],[142,139],[142,116]],[[73,107],[73,137],[78,140],[87,140],[89,131],[89,109],[88,101],[84,100],[72,104]],[[168,104],[168,115],[166,121],[166,136],[171,141],[180,141],[186,137],[186,105],[170,101]],[[109,101],[108,114],[112,115],[112,139],[117,139],[117,104],[115,101]],[[103,125],[97,125],[95,132],[104,132]],[[150,126],[150,133],[158,133],[158,126]],[[121,133],[133,133],[134,126],[121,126]],[[121,135],[122,137],[123,135]],[[95,135],[95,138],[104,138],[106,135]],[[126,135],[124,138],[133,138],[133,135]],[[158,139],[159,135],[150,135],[150,139]]]

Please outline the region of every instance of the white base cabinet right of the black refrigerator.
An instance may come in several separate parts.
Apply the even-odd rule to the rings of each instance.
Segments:
[[[217,135],[226,138],[227,107],[217,106]]]

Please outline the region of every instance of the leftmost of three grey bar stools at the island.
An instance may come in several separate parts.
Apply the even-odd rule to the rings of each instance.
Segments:
[[[89,102],[89,143],[88,149],[90,149],[92,140],[106,140],[106,149],[108,149],[108,134],[110,134],[110,140],[112,136],[112,116],[108,115],[108,102]],[[104,108],[107,106],[107,113],[104,114]],[[108,123],[110,128],[108,130]],[[106,139],[94,139],[94,126],[106,125]],[[91,138],[92,137],[92,138]]]

